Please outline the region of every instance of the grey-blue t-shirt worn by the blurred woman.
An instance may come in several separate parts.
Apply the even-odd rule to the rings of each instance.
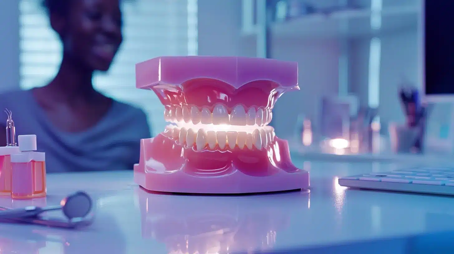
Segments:
[[[132,170],[138,163],[140,139],[150,137],[145,113],[115,100],[109,112],[84,132],[57,130],[30,90],[0,94],[0,112],[5,108],[12,112],[16,138],[36,135],[38,151],[46,153],[47,172]],[[5,125],[8,117],[3,114],[0,122]]]

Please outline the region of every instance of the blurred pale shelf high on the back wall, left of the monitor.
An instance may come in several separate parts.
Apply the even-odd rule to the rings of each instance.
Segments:
[[[270,24],[272,36],[286,39],[311,37],[368,37],[391,34],[418,26],[420,7],[415,5],[370,9],[340,10],[330,14],[308,14]],[[244,36],[257,34],[258,25],[243,27]]]

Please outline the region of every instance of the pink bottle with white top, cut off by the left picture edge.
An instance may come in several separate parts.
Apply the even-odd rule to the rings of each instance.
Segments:
[[[19,147],[0,147],[0,195],[11,195],[11,154],[19,153]]]

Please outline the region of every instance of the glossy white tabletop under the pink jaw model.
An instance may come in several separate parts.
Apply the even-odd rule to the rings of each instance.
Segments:
[[[158,195],[133,184],[132,171],[48,175],[47,205],[85,190],[98,199],[94,224],[83,230],[2,224],[0,248],[5,253],[38,253],[39,249],[40,254],[166,254],[178,248],[185,253],[187,245],[189,253],[214,254],[454,230],[451,197],[347,190],[337,184],[338,177],[393,170],[396,164],[302,159],[294,163],[310,171],[310,193]],[[29,204],[0,198],[0,205]],[[393,252],[388,249],[387,253]]]

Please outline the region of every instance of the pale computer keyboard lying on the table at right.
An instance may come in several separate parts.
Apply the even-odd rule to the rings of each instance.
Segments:
[[[339,179],[339,185],[371,190],[454,195],[454,167],[413,167],[347,176]]]

